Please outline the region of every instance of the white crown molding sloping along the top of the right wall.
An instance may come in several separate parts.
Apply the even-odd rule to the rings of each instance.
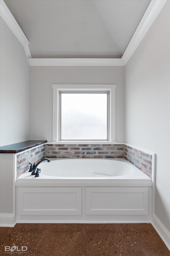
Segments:
[[[146,35],[147,31],[150,29],[152,23],[155,21],[156,17],[164,7],[167,0],[152,0],[150,5],[148,6],[139,26],[137,27],[128,47],[126,48],[123,56],[122,61],[126,65],[144,36]]]

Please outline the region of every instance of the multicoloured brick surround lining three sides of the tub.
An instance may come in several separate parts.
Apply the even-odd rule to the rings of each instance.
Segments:
[[[44,144],[17,155],[17,177],[43,158],[125,158],[152,177],[152,156],[124,144]]]

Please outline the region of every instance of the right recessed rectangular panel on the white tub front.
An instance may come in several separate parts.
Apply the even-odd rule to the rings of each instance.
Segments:
[[[148,188],[86,188],[86,214],[148,214]]]

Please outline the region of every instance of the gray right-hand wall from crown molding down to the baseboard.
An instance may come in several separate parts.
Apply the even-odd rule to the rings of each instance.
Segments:
[[[156,153],[155,214],[170,231],[169,5],[125,67],[125,142]]]

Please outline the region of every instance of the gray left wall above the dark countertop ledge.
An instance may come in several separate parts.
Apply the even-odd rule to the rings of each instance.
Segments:
[[[29,140],[30,67],[24,48],[1,18],[1,146]]]

